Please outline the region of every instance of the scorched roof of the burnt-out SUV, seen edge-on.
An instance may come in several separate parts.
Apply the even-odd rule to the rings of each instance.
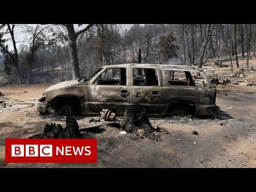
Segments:
[[[138,67],[163,67],[163,68],[176,68],[176,69],[188,69],[188,70],[199,70],[202,69],[187,66],[187,65],[162,65],[162,64],[141,64],[141,63],[125,63],[125,64],[116,64],[116,65],[106,65],[104,68],[108,67],[127,67],[127,66],[138,66]]]

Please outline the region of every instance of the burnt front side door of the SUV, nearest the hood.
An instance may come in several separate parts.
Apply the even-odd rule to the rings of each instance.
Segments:
[[[102,109],[110,109],[123,114],[129,105],[129,94],[127,68],[106,68],[86,86],[85,113],[99,114]]]

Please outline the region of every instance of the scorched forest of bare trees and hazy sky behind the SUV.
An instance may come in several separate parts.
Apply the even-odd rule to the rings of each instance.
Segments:
[[[13,84],[63,82],[90,77],[103,65],[142,63],[198,65],[208,59],[228,56],[255,59],[254,24],[134,24],[129,30],[117,24],[0,26],[0,73]],[[14,34],[25,36],[17,47]],[[6,38],[9,35],[9,39]],[[7,41],[13,45],[9,49]],[[1,60],[0,60],[1,62]],[[1,66],[1,65],[0,65]]]

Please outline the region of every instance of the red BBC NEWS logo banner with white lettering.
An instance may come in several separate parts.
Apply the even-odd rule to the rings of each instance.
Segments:
[[[5,139],[6,163],[97,163],[97,139]]]

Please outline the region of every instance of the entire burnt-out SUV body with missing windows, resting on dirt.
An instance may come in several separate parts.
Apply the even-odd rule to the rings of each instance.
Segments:
[[[103,66],[89,79],[52,85],[35,106],[41,113],[68,107],[83,115],[99,115],[104,108],[123,115],[131,105],[138,111],[145,107],[147,115],[162,116],[182,106],[193,115],[204,116],[217,110],[216,91],[202,69],[129,63]]]

